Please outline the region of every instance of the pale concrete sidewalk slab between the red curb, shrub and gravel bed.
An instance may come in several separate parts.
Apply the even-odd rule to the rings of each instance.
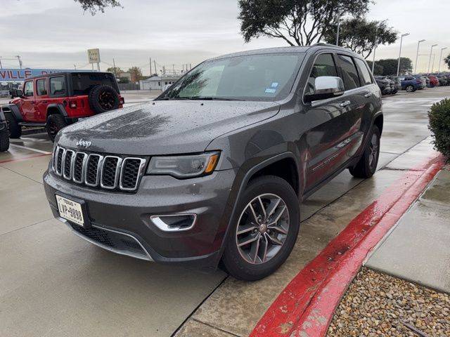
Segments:
[[[450,293],[450,165],[366,262],[380,272]]]

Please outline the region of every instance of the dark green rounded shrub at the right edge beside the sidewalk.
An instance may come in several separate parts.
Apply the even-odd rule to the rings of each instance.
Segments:
[[[435,138],[435,149],[445,156],[450,156],[450,99],[445,98],[432,105],[428,112],[430,131]]]

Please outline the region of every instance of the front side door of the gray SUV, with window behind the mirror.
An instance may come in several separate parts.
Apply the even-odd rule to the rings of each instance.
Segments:
[[[338,66],[338,55],[333,52],[316,55],[314,65],[309,72],[304,93],[314,92],[316,77],[342,77]],[[352,81],[351,81],[352,80]],[[348,160],[347,152],[354,143],[353,134],[359,129],[356,116],[355,92],[359,87],[359,77],[347,81],[345,94],[327,100],[305,104],[307,128],[307,181],[306,190],[310,190],[322,180],[331,176]],[[348,90],[347,90],[348,89]]]

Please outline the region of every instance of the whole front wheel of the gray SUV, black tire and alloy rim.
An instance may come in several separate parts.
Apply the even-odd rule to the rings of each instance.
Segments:
[[[262,176],[245,188],[236,208],[222,263],[236,279],[271,275],[297,241],[300,205],[293,187],[276,176]]]

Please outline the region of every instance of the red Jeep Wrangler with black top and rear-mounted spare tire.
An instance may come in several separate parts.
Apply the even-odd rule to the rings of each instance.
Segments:
[[[23,91],[2,105],[11,138],[22,126],[44,126],[53,141],[61,128],[84,117],[123,107],[115,77],[110,72],[60,72],[25,80]]]

